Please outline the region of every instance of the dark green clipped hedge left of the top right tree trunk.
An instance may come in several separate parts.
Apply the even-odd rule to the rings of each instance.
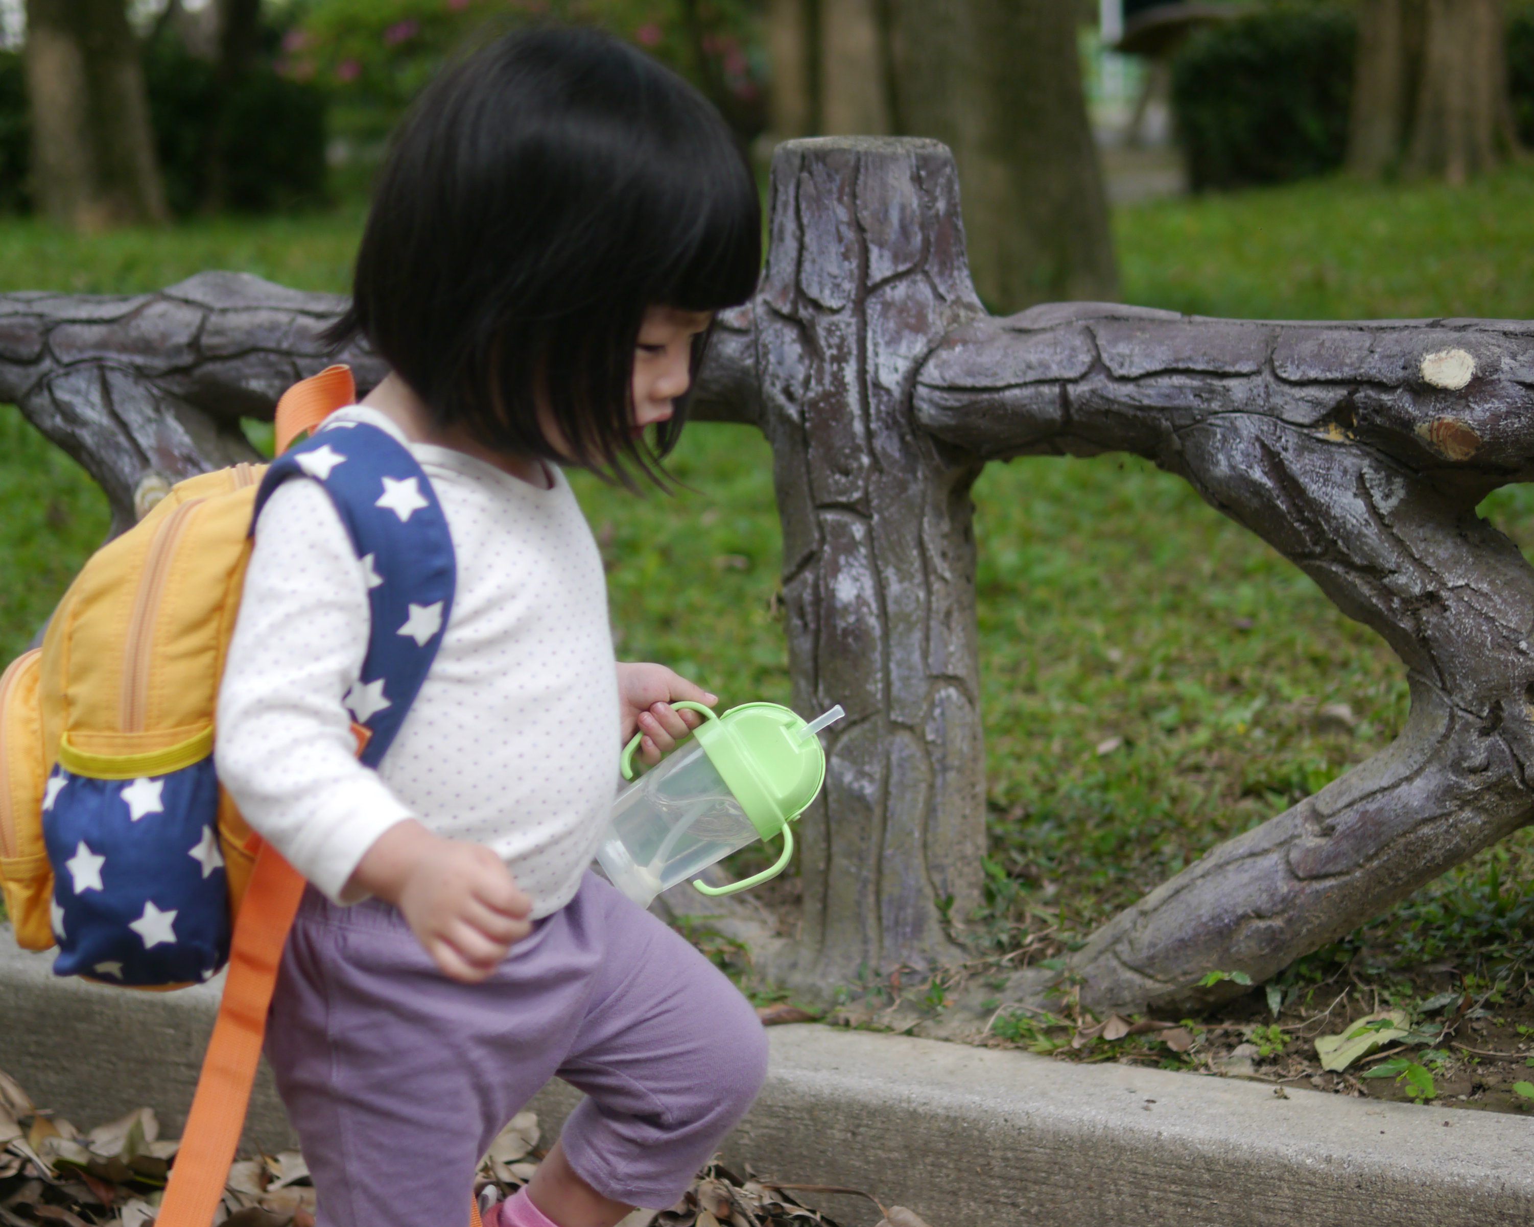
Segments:
[[[1295,3],[1210,26],[1172,61],[1172,110],[1195,192],[1287,183],[1342,164],[1356,23]]]

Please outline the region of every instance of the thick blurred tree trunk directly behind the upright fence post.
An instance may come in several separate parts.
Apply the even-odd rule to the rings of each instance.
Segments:
[[[1077,9],[890,0],[900,132],[953,149],[976,287],[992,310],[1118,291],[1086,118]]]

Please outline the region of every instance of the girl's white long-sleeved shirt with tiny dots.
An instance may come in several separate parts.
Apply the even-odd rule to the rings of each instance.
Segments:
[[[371,410],[341,414],[400,439]],[[408,446],[446,514],[457,587],[399,736],[376,773],[357,762],[342,695],[367,653],[367,578],[330,497],[293,480],[256,523],[218,699],[219,779],[336,902],[373,842],[414,817],[494,848],[532,916],[548,916],[580,885],[618,773],[601,557],[557,469],[537,489],[463,452]]]

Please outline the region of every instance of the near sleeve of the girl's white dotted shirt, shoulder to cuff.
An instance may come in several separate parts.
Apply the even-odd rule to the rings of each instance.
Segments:
[[[368,646],[368,594],[330,497],[281,486],[261,512],[218,698],[219,779],[245,821],[336,902],[411,810],[356,759],[342,696]]]

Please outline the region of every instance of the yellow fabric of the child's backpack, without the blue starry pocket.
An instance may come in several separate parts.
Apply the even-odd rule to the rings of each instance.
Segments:
[[[54,945],[54,870],[41,825],[54,765],[130,781],[212,752],[264,472],[235,465],[173,486],[97,551],[58,603],[43,646],[0,676],[0,887],[21,948]],[[218,839],[238,910],[255,844],[222,793]]]

